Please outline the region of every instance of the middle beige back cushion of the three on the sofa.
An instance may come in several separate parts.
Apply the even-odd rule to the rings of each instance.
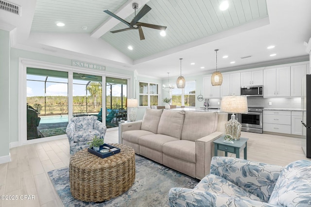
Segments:
[[[180,139],[185,112],[174,110],[163,110],[157,133]]]

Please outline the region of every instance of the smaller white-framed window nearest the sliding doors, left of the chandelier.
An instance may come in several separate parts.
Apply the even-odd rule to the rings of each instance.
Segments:
[[[158,85],[139,82],[139,106],[158,105]]]

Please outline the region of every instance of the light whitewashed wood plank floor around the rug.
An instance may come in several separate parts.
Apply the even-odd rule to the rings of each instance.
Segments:
[[[307,159],[301,149],[303,139],[248,132],[242,132],[241,137],[249,138],[249,160],[285,166],[298,159]],[[106,132],[105,143],[118,141],[118,129]],[[18,200],[0,200],[0,206],[62,207],[47,173],[69,166],[68,139],[15,147],[10,152],[12,161],[0,164],[0,195],[17,195]],[[35,200],[21,200],[20,195],[34,195]]]

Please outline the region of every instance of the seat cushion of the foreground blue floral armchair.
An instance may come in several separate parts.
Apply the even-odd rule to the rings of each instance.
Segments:
[[[232,182],[223,177],[214,174],[205,176],[193,190],[202,190],[206,192],[216,193],[217,195],[225,195],[230,197],[238,197],[247,200],[260,201],[259,197],[250,192],[234,185]],[[217,205],[217,202],[216,202]],[[220,206],[220,205],[219,205]]]

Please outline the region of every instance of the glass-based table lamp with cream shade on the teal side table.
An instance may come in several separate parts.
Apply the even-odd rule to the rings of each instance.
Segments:
[[[241,136],[242,124],[236,120],[234,114],[248,112],[247,97],[223,96],[220,111],[232,113],[231,120],[225,123],[225,133],[226,135],[231,135],[234,140],[239,140]]]

